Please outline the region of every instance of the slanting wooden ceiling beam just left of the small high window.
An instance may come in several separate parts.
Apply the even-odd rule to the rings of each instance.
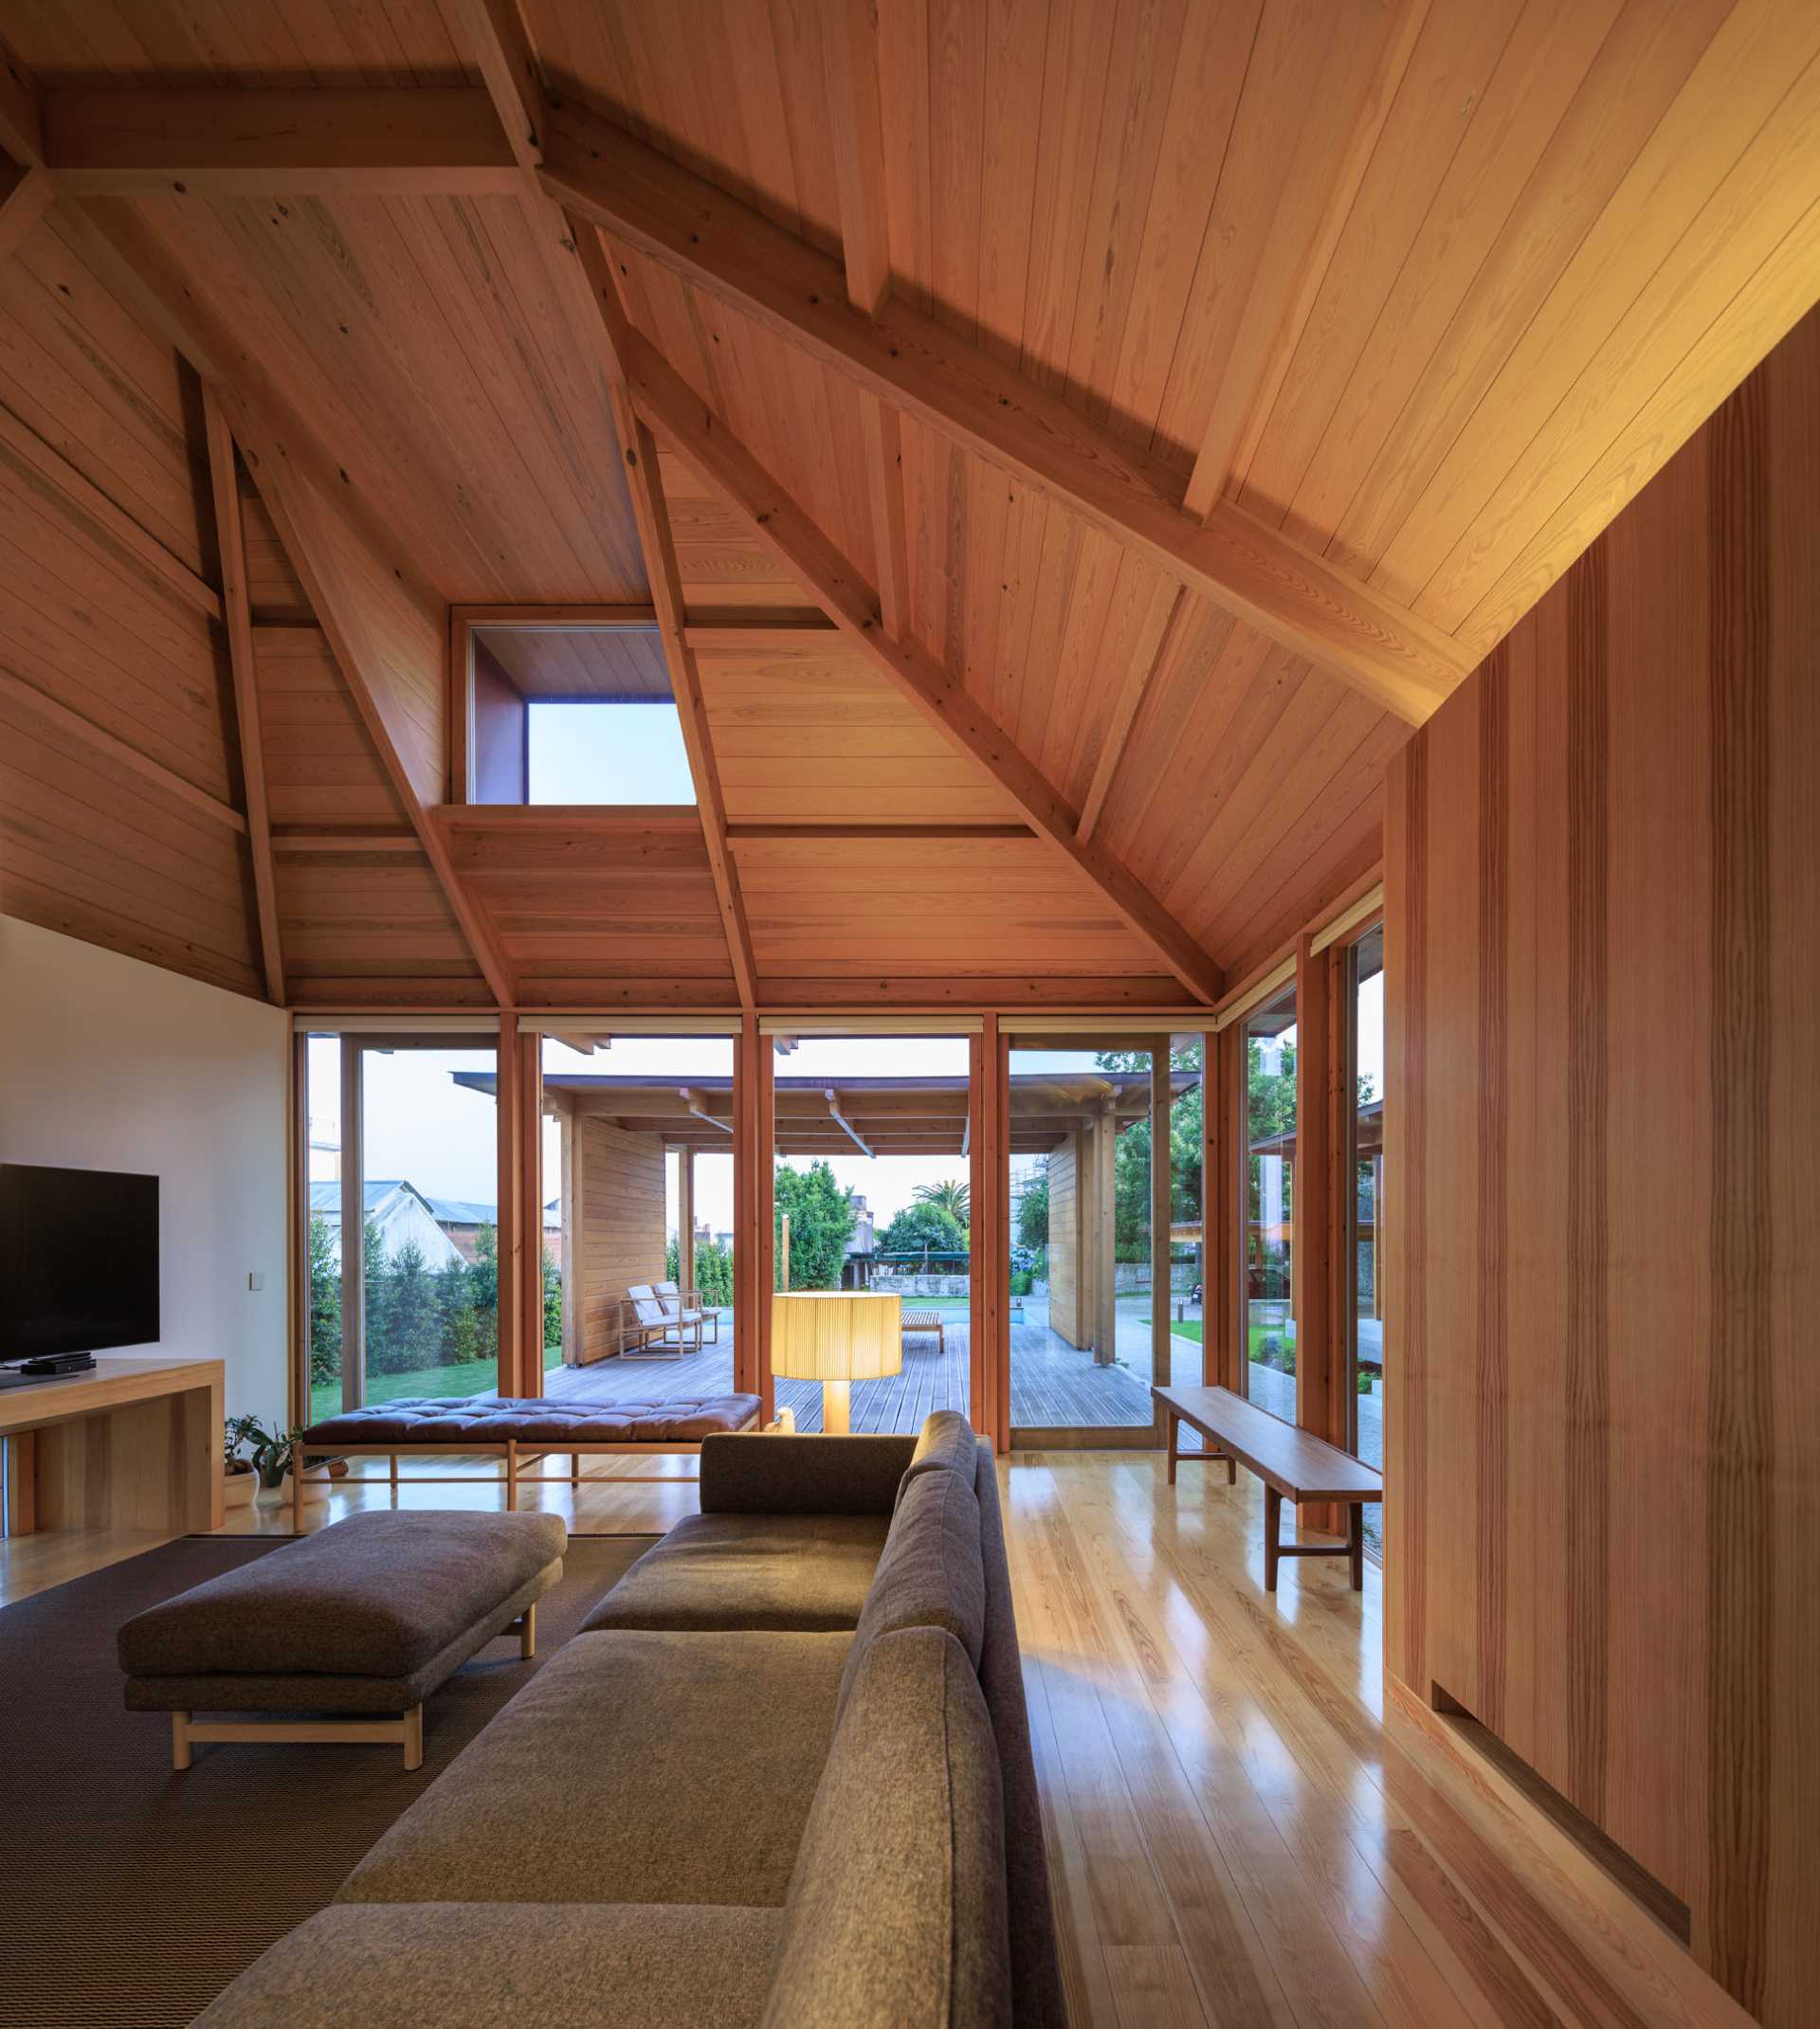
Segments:
[[[371,629],[359,611],[353,584],[325,540],[323,517],[333,515],[335,509],[314,495],[306,481],[284,467],[280,459],[266,459],[258,424],[252,424],[252,418],[250,426],[256,432],[254,442],[248,442],[239,432],[235,434],[241,448],[250,452],[248,469],[254,475],[254,485],[260,489],[266,511],[272,515],[272,526],[278,530],[278,540],[284,544],[290,568],[302,582],[310,611],[317,615],[335,666],[341,670],[341,680],[347,684],[347,692],[371,734],[373,749],[379,755],[392,789],[404,806],[418,844],[424,848],[430,870],[442,889],[442,899],[448,903],[489,992],[501,1008],[509,1008],[515,996],[511,964],[491,921],[481,913],[479,903],[469,895],[454,866],[448,852],[448,838],[434,820],[434,806],[424,781],[406,765],[402,706],[388,688],[373,682],[377,653],[371,645]]]

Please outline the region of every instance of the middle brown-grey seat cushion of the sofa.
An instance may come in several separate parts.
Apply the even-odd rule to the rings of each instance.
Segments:
[[[783,1901],[850,1633],[576,1635],[341,1901]]]

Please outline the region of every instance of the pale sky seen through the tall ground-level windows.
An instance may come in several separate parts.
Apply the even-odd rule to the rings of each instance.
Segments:
[[[335,1037],[310,1039],[310,1140],[341,1144],[341,1075]],[[954,1077],[966,1075],[966,1037],[803,1037],[777,1059],[783,1077]],[[1090,1051],[1029,1051],[1012,1055],[1012,1071],[1092,1069]],[[491,1051],[400,1049],[375,1053],[365,1071],[365,1171],[408,1177],[430,1197],[497,1201],[497,1140],[493,1100],[457,1086],[452,1071],[491,1071]],[[730,1077],[726,1037],[619,1037],[611,1049],[582,1057],[562,1043],[544,1043],[546,1071],[594,1075],[655,1073],[661,1077]],[[1359,992],[1359,1069],[1384,1092],[1384,974]],[[558,1193],[562,1163],[556,1122],[544,1124],[544,1197]],[[321,1163],[321,1152],[317,1155]],[[1029,1169],[1017,1159],[1014,1169]],[[917,1185],[966,1181],[968,1165],[952,1157],[881,1157],[854,1150],[832,1159],[838,1183],[858,1191],[883,1230],[911,1203]],[[676,1228],[676,1165],[670,1165],[668,1223]],[[696,1215],[712,1232],[732,1228],[732,1159],[696,1159]]]

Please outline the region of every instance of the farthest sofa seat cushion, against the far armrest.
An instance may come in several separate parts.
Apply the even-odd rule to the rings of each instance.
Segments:
[[[883,1514],[688,1516],[619,1579],[582,1631],[850,1631],[858,1627],[889,1530],[891,1518]]]

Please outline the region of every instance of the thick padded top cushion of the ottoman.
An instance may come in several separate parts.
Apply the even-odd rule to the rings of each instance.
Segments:
[[[560,1516],[359,1514],[120,1629],[130,1676],[410,1678],[550,1566]]]

